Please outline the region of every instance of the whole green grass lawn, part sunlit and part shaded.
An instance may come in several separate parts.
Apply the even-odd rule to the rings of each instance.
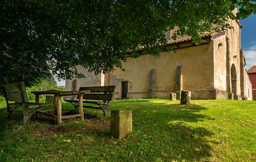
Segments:
[[[66,109],[72,105],[63,103]],[[114,101],[133,110],[133,134],[110,135],[110,113],[86,110],[85,121],[32,119],[0,109],[0,161],[256,161],[255,101]]]

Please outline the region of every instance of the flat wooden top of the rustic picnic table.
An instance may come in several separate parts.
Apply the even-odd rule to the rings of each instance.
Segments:
[[[31,93],[35,95],[53,94],[53,95],[67,96],[67,95],[79,95],[79,94],[90,93],[90,90],[79,90],[79,91],[45,90],[45,91],[32,91]]]

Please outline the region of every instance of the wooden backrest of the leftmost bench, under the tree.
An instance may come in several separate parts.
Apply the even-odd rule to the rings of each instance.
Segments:
[[[24,82],[5,85],[5,98],[7,104],[9,101],[22,102],[23,104],[28,102]]]

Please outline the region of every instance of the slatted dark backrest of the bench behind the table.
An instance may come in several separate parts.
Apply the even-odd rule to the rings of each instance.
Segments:
[[[79,90],[90,90],[89,94],[83,95],[83,99],[112,101],[115,86],[86,86]]]

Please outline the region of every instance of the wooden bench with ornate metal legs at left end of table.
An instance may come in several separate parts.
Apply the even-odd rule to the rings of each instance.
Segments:
[[[40,108],[49,106],[48,103],[28,102],[24,82],[5,85],[5,99],[7,104],[7,117],[18,107],[23,107],[23,123],[28,124],[31,116]],[[11,102],[11,103],[10,103]]]

